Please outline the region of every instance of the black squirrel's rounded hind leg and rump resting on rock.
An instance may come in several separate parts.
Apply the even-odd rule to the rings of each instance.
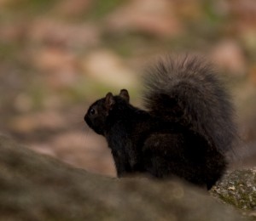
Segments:
[[[183,133],[154,133],[143,144],[143,165],[156,178],[178,177],[210,190],[224,173],[226,161],[221,153],[198,153],[203,144]],[[198,145],[195,148],[195,145]],[[202,146],[201,146],[202,145]],[[191,151],[195,153],[191,154]],[[216,156],[216,157],[215,157]]]

